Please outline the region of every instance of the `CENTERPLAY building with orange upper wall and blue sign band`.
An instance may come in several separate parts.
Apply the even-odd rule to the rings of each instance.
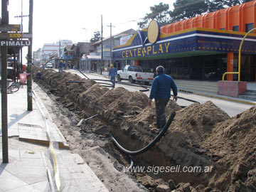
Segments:
[[[221,80],[238,71],[238,50],[256,28],[256,1],[196,16],[161,28],[156,22],[113,50],[114,60],[134,60],[145,71],[163,65],[174,78]],[[242,46],[241,80],[256,81],[256,35]],[[237,80],[238,75],[227,75]]]

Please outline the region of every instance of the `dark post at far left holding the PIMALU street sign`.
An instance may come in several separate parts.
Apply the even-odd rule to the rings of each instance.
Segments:
[[[9,24],[8,0],[1,1],[1,24]],[[3,163],[9,163],[8,158],[8,119],[7,119],[7,46],[1,46],[1,124]]]

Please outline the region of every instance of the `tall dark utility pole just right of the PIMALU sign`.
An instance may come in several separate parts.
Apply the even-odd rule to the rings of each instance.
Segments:
[[[33,0],[29,0],[29,21],[28,21],[28,33],[33,34]],[[32,100],[32,39],[31,45],[28,46],[28,80],[27,80],[27,93],[28,93],[28,111],[33,110],[33,100]]]

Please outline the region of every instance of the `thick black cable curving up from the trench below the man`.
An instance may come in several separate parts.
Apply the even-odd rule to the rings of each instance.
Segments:
[[[112,139],[112,141],[114,142],[114,144],[117,145],[117,147],[123,151],[125,154],[130,154],[130,155],[138,155],[138,154],[143,154],[145,151],[149,150],[152,148],[152,146],[154,146],[154,144],[156,144],[156,142],[159,142],[159,140],[161,139],[161,137],[164,136],[164,134],[166,133],[167,129],[170,127],[171,122],[174,120],[176,112],[173,112],[168,120],[168,122],[166,123],[166,125],[164,126],[163,129],[161,129],[161,132],[154,138],[154,140],[149,143],[147,146],[144,146],[144,148],[139,149],[137,151],[129,151],[128,149],[125,149],[121,144],[119,144],[117,142],[116,139],[114,139],[114,136],[110,133],[110,138]]]

